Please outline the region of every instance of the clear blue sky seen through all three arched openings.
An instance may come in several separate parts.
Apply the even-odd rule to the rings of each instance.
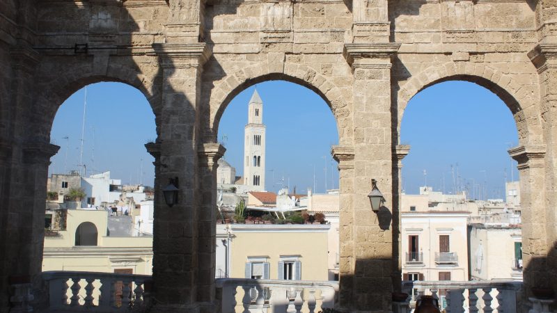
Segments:
[[[325,189],[325,168],[327,188],[338,188],[338,170],[330,155],[331,145],[338,143],[334,117],[318,95],[285,81],[252,86],[224,111],[219,142],[237,175],[243,171],[244,125],[254,88],[263,100],[267,125],[267,190],[289,184],[305,193],[313,188],[314,168],[317,192]],[[111,170],[112,177],[124,183],[152,185],[153,159],[143,145],[156,138],[155,115],[146,98],[123,83],[96,83],[87,89],[83,159],[88,175]],[[51,139],[61,149],[52,158],[51,173],[79,167],[83,108],[81,89],[56,114]],[[462,185],[476,198],[480,188],[488,198],[503,197],[505,172],[508,180],[511,176],[506,150],[517,145],[517,131],[505,104],[485,88],[451,81],[423,90],[409,102],[400,136],[411,145],[402,170],[407,193],[418,193],[427,178],[428,185],[447,193]],[[512,166],[517,179],[516,163]],[[473,184],[478,185],[475,192]]]

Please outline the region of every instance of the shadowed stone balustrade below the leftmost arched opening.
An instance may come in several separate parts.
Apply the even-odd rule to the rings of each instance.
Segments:
[[[49,271],[42,278],[49,312],[141,312],[150,300],[144,290],[149,275]]]

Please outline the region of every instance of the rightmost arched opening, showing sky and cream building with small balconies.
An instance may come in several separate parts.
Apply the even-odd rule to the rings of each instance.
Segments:
[[[521,280],[519,173],[508,154],[521,114],[508,93],[478,78],[432,83],[408,102],[402,280]]]

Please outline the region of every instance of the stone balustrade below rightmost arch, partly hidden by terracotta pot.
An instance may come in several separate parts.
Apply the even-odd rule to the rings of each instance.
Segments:
[[[439,306],[445,312],[497,312],[516,313],[521,307],[522,282],[455,282],[455,281],[414,281],[403,282],[402,289],[414,294],[410,307],[423,294],[431,294],[439,299]],[[444,291],[444,296],[439,296]]]

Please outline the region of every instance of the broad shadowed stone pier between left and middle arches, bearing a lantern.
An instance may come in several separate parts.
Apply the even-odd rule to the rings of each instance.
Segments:
[[[198,188],[201,71],[210,51],[205,44],[157,44],[162,67],[159,138],[152,145],[159,163],[153,225],[154,312],[199,312],[199,218],[203,194]],[[156,151],[158,150],[158,151]],[[162,189],[178,178],[178,203],[168,207]]]

